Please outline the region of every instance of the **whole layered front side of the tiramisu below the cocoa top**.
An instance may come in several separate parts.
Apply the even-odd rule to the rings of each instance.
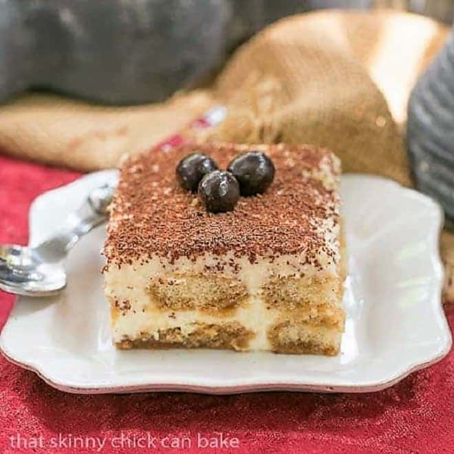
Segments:
[[[212,260],[215,259],[223,260],[226,257],[212,257]],[[224,345],[222,348],[241,350],[310,353],[312,348],[312,353],[338,352],[345,322],[342,295],[338,294],[343,288],[340,273],[322,273],[307,265],[295,268],[290,265],[292,261],[288,257],[281,257],[274,263],[255,264],[249,263],[247,259],[237,259],[235,273],[229,274],[224,270],[203,274],[205,280],[209,280],[213,275],[216,279],[222,277],[226,281],[235,279],[237,285],[244,288],[245,295],[244,299],[236,304],[215,308],[172,308],[160,304],[149,291],[149,282],[153,281],[155,276],[162,276],[164,270],[178,270],[180,281],[185,282],[190,281],[192,276],[184,274],[185,271],[193,273],[195,270],[203,270],[203,264],[212,261],[205,257],[199,258],[197,263],[187,259],[180,259],[173,264],[162,263],[162,259],[156,257],[154,261],[142,265],[135,263],[122,266],[120,270],[111,268],[106,272],[106,294],[112,306],[114,341],[119,347],[140,345],[149,348],[215,348],[222,341],[222,344],[219,344]],[[272,276],[281,276],[284,282],[285,279],[288,281],[295,278],[297,269],[301,274],[298,274],[296,279],[318,279],[325,282],[325,287],[318,287],[318,293],[313,291],[312,300],[303,303],[300,298],[300,305],[295,305],[294,300],[283,300],[279,304],[270,305],[263,291],[267,288],[266,283],[270,282]],[[174,282],[169,288],[179,285],[182,283]],[[280,294],[279,290],[285,291],[285,288],[279,289],[276,283],[274,286],[277,294]],[[204,288],[200,289],[197,302],[204,301],[206,296],[213,296],[209,288],[208,294],[204,294],[203,290]],[[334,297],[324,299],[325,294],[332,294]],[[228,299],[228,287],[226,296]],[[216,334],[212,340],[205,342],[206,332]],[[300,333],[300,343],[294,337],[295,332]]]

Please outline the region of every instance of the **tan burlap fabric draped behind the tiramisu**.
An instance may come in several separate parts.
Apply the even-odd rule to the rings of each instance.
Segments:
[[[431,19],[399,12],[290,17],[235,52],[212,87],[161,105],[24,96],[0,109],[0,149],[84,171],[107,168],[221,103],[226,120],[199,140],[323,144],[340,156],[344,171],[411,185],[402,139],[407,100],[447,33]],[[442,254],[451,300],[451,235],[442,236]]]

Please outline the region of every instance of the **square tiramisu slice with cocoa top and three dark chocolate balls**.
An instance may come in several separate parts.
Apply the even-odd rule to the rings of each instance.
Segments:
[[[246,187],[251,162],[263,193]],[[104,249],[117,347],[336,355],[339,182],[338,159],[312,146],[190,144],[128,160]]]

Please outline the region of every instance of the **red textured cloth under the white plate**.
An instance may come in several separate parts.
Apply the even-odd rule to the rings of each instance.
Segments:
[[[78,176],[73,171],[0,156],[0,242],[26,244],[30,202],[43,191]],[[1,325],[12,303],[12,296],[0,293]],[[452,329],[454,307],[447,312]],[[203,447],[208,437],[219,443],[220,434],[224,446],[228,441],[233,447]],[[121,435],[122,439],[118,438]],[[454,354],[390,389],[357,395],[75,396],[52,389],[34,373],[0,358],[1,454],[85,454],[96,452],[91,443],[103,440],[105,444],[98,451],[102,453],[451,454]],[[162,446],[175,440],[182,448]],[[89,447],[80,448],[82,442]],[[141,447],[144,443],[147,447]]]

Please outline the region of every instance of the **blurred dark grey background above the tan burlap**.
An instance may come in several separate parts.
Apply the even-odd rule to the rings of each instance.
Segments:
[[[451,0],[1,0],[0,102],[30,87],[97,102],[162,101],[278,19],[393,8],[451,24]]]

